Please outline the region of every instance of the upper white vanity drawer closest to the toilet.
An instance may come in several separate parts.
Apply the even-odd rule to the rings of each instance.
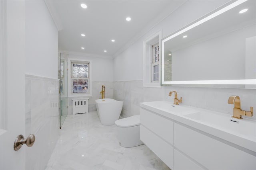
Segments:
[[[171,120],[140,108],[140,124],[173,145],[173,122]]]

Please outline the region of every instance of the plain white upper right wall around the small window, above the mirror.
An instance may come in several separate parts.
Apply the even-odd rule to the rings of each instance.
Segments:
[[[206,15],[224,4],[223,1],[198,0],[187,1],[178,10],[153,27],[138,41],[114,59],[114,81],[142,80],[142,43],[145,39],[163,29],[163,37],[188,25],[190,22]]]

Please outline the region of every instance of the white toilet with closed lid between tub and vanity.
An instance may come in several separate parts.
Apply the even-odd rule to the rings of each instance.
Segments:
[[[144,144],[140,140],[140,115],[115,121],[117,137],[122,147],[130,148]]]

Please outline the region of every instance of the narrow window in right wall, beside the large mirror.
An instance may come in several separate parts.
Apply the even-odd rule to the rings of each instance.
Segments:
[[[159,43],[152,45],[151,82],[159,82]]]

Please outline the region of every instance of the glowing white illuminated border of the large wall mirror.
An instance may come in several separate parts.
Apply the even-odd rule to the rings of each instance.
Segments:
[[[246,2],[247,0],[237,0],[235,2],[228,2],[226,4],[224,4],[224,7],[221,6],[220,8],[210,12],[209,14],[206,14],[205,16],[199,18],[198,20],[186,25],[185,27],[182,27],[181,29],[179,29],[178,31],[168,35],[167,37],[164,37],[162,40],[161,40],[161,68],[162,68],[162,71],[161,71],[161,86],[163,85],[176,85],[176,86],[188,86],[189,84],[195,84],[194,87],[212,87],[212,86],[209,86],[209,85],[224,85],[224,87],[226,87],[226,85],[256,85],[256,79],[243,79],[243,80],[192,80],[192,81],[164,81],[164,42],[216,17],[216,16],[219,16],[220,14],[228,11],[228,10],[231,10],[232,8]],[[197,85],[201,85],[201,86],[197,86]],[[204,86],[206,85],[206,86]],[[216,86],[214,86],[216,87]],[[218,87],[218,86],[217,86]],[[220,86],[220,87],[223,87],[223,86]],[[228,87],[229,88],[229,87]],[[231,86],[232,88],[232,86]],[[235,86],[235,88],[237,88]],[[240,88],[240,86],[238,87]],[[255,87],[253,87],[255,88]]]

